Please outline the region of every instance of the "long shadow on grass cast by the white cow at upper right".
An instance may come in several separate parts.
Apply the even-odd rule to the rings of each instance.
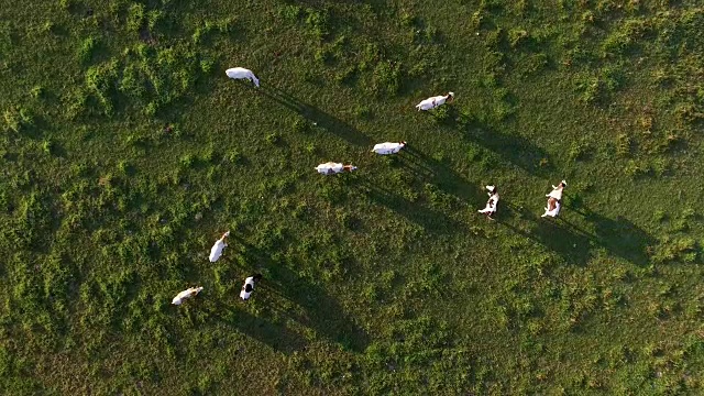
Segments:
[[[482,145],[531,175],[548,176],[552,170],[549,154],[530,140],[504,134],[480,121],[460,128],[464,139]]]

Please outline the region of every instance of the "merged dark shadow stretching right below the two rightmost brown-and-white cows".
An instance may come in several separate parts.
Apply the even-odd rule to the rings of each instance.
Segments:
[[[506,201],[503,204],[508,215],[503,213],[503,217],[498,218],[501,224],[554,251],[569,263],[584,265],[592,256],[592,248],[603,248],[609,254],[632,264],[647,265],[648,246],[656,242],[645,230],[622,217],[608,219],[590,209],[578,210],[565,205],[562,210],[575,211],[584,216],[585,221],[594,224],[595,231],[591,232],[565,219],[564,213],[554,219],[540,218],[539,215],[525,208],[518,208]],[[502,218],[513,217],[512,211],[531,221],[532,227],[529,231],[502,220]]]

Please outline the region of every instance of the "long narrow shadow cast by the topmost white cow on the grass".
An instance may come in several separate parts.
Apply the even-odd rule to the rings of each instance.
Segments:
[[[316,123],[317,127],[320,127],[352,144],[360,146],[370,146],[370,144],[372,143],[372,140],[369,136],[358,131],[350,124],[314,106],[301,102],[284,90],[280,90],[276,87],[263,86],[262,88],[260,88],[260,91],[266,97],[283,105],[284,107],[287,107],[288,109],[299,113],[306,120]]]

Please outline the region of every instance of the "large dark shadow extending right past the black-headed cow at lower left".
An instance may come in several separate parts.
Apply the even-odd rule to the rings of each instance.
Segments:
[[[354,321],[344,315],[344,310],[338,301],[330,297],[326,290],[310,283],[308,279],[292,271],[286,263],[273,258],[267,253],[240,237],[233,239],[243,246],[242,255],[250,262],[258,263],[266,267],[268,276],[262,280],[257,293],[274,293],[287,298],[305,308],[306,316],[297,316],[293,312],[292,319],[315,329],[318,334],[339,343],[342,348],[352,352],[363,352],[370,343],[369,336]]]

